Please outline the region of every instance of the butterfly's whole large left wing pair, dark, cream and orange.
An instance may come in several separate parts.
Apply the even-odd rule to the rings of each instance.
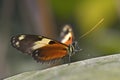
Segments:
[[[68,46],[38,35],[17,35],[11,44],[23,53],[32,55],[37,61],[51,61],[67,55]]]

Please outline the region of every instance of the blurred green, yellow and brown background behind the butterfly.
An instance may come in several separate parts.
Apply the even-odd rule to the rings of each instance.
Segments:
[[[78,39],[102,18],[96,30]],[[39,34],[58,40],[65,24],[72,26],[83,49],[71,57],[72,62],[120,52],[119,0],[0,0],[0,79],[53,66],[36,63],[13,48],[13,35]]]

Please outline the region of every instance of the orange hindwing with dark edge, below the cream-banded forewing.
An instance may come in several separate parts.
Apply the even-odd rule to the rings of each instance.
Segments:
[[[60,43],[54,43],[35,50],[32,56],[37,62],[46,62],[63,58],[68,55],[67,50],[68,46]]]

